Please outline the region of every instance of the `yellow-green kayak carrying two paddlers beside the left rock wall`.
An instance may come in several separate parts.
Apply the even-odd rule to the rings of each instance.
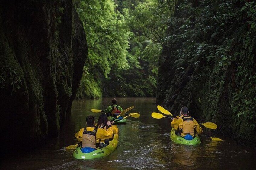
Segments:
[[[109,145],[103,148],[97,148],[97,150],[94,150],[90,153],[82,153],[81,147],[77,147],[73,153],[74,158],[76,159],[95,159],[95,158],[101,158],[104,156],[109,155],[112,153],[116,148],[118,144],[118,134],[114,135],[114,138],[112,141],[109,142]]]

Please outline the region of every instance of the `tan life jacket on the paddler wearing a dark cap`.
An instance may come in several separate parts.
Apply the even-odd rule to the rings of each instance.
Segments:
[[[191,116],[183,116],[181,117],[183,120],[182,129],[181,129],[181,136],[182,134],[191,134],[195,137],[195,129],[194,129],[194,119]]]

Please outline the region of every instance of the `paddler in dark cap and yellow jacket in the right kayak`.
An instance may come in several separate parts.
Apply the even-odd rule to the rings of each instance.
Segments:
[[[173,119],[171,126],[175,129],[177,135],[187,140],[192,140],[195,138],[196,134],[201,134],[202,128],[197,123],[196,119],[189,116],[189,111],[187,107],[181,108],[181,115],[179,119]]]

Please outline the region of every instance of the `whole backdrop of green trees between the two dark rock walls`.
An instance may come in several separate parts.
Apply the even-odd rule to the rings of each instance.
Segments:
[[[104,96],[120,97],[155,96],[158,56],[162,45],[157,42],[161,37],[154,35],[162,36],[166,29],[158,20],[161,16],[155,7],[158,12],[166,9],[166,2],[164,7],[160,7],[163,3],[155,0],[146,3],[117,1],[120,7],[112,0],[74,3],[84,24],[89,48],[77,97],[101,97],[102,93]],[[147,26],[150,24],[150,28],[143,28],[142,23],[133,25],[137,24],[140,11],[143,11],[144,21]],[[153,13],[158,17],[152,16]],[[153,34],[150,29],[154,29]],[[143,30],[147,35],[139,33]]]

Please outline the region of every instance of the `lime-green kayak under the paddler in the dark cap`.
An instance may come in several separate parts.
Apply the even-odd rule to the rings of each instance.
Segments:
[[[194,139],[188,141],[180,136],[177,136],[175,134],[175,129],[172,128],[171,129],[171,133],[170,133],[170,138],[171,140],[176,143],[176,144],[184,144],[184,145],[198,145],[201,143],[201,140],[198,136],[196,136]]]

